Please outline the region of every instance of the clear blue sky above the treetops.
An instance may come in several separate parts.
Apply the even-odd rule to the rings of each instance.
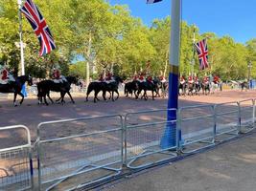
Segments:
[[[171,0],[147,5],[146,0],[109,0],[110,4],[127,4],[132,16],[146,25],[154,18],[171,14]],[[230,35],[237,42],[256,38],[256,0],[183,0],[182,19],[196,24],[200,32]]]

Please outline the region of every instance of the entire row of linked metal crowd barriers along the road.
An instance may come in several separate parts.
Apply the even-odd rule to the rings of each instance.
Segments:
[[[129,169],[147,168],[175,158],[179,151],[181,155],[197,152],[255,128],[255,99],[181,107],[177,120],[167,120],[169,112],[176,110],[40,123],[34,148],[38,167],[36,190],[80,188],[119,175],[123,165]],[[5,131],[15,135],[15,141],[0,145],[0,190],[35,189],[33,177],[37,178],[33,174],[28,128],[17,125],[2,127],[0,131],[5,137]],[[24,140],[19,141],[21,138]],[[169,144],[163,146],[163,140]],[[8,145],[10,142],[14,145]]]

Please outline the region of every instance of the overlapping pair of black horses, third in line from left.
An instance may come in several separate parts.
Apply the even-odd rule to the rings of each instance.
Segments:
[[[119,97],[118,86],[119,86],[119,83],[123,82],[123,80],[119,76],[114,76],[113,78],[114,80],[111,80],[111,81],[90,82],[87,89],[87,93],[86,93],[86,101],[88,101],[88,96],[92,91],[94,91],[94,99],[93,99],[94,102],[96,102],[97,100],[100,100],[97,97],[100,92],[103,92],[104,100],[106,100],[105,98],[106,92],[110,94],[109,99],[112,98],[112,101],[118,99]],[[114,99],[114,93],[117,94],[117,97],[115,99]]]

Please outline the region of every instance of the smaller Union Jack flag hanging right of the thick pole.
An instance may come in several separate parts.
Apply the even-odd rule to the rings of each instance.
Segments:
[[[204,70],[209,67],[208,47],[207,47],[206,39],[203,39],[198,43],[196,43],[195,47],[198,52],[199,68],[200,70]]]

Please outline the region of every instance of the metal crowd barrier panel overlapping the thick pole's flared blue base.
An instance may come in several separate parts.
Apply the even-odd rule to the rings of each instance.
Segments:
[[[177,156],[176,120],[167,120],[168,112],[176,113],[176,110],[151,110],[126,115],[124,161],[128,168],[143,168]],[[173,139],[173,144],[161,145],[161,140],[169,141],[169,138]]]

